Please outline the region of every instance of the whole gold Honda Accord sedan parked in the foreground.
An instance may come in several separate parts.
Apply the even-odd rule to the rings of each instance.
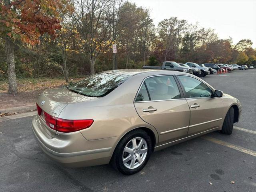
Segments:
[[[184,72],[113,70],[43,92],[32,130],[67,167],[111,163],[134,174],[153,151],[213,131],[231,134],[238,99]]]

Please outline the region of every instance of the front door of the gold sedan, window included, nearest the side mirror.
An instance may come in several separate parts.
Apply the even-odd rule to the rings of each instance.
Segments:
[[[213,97],[213,90],[197,78],[177,75],[190,108],[188,134],[196,134],[221,126],[224,104]]]

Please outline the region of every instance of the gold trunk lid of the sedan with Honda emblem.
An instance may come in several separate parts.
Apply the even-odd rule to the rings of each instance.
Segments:
[[[44,112],[51,116],[58,118],[60,112],[68,105],[77,102],[85,102],[98,99],[96,97],[87,97],[78,93],[67,90],[66,88],[58,88],[53,90],[44,91],[38,98],[37,104],[42,109],[38,115],[40,126],[46,133],[48,138],[54,138],[56,130],[46,125]]]

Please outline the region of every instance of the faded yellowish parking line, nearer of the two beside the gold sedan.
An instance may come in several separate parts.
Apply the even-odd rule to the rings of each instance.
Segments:
[[[256,157],[256,151],[246,149],[246,148],[243,148],[243,147],[240,147],[240,146],[237,146],[237,145],[234,145],[234,144],[222,141],[222,140],[218,140],[216,138],[209,137],[209,136],[202,136],[201,138]]]

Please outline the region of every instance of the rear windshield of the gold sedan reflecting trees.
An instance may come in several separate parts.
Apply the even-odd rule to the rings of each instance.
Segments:
[[[103,97],[120,86],[130,76],[98,73],[67,87],[68,90],[89,97]]]

